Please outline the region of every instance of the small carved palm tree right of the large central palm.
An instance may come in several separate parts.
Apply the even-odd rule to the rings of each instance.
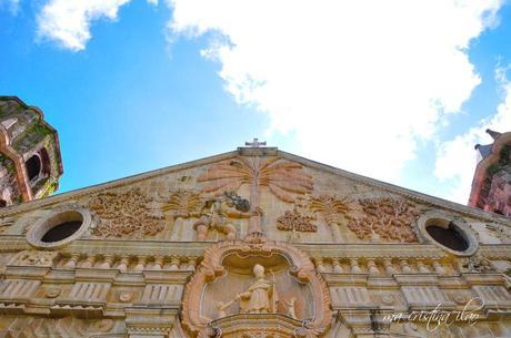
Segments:
[[[348,198],[322,195],[311,198],[310,208],[314,213],[319,213],[323,216],[332,232],[333,240],[341,242],[342,236],[339,226],[341,225],[342,217],[350,221],[352,219],[349,215],[351,212],[350,201]]]

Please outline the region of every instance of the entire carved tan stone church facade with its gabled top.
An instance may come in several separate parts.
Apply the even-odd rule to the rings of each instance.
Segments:
[[[250,143],[0,211],[0,337],[511,337],[511,219]]]

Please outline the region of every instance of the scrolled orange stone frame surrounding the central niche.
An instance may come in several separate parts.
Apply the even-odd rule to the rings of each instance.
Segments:
[[[293,325],[295,325],[295,329],[307,330],[307,336],[309,337],[318,337],[324,334],[329,328],[332,316],[330,310],[330,295],[327,284],[322,277],[315,273],[314,266],[307,254],[294,248],[293,246],[275,242],[262,242],[257,244],[247,242],[222,242],[214,244],[204,250],[204,259],[201,262],[196,274],[184,288],[181,322],[183,327],[189,331],[189,334],[191,334],[192,337],[208,337],[210,334],[208,331],[210,325],[214,326],[217,321],[222,321],[220,318],[211,324],[211,319],[201,316],[201,295],[206,285],[217,280],[218,277],[226,275],[226,268],[222,265],[226,257],[238,257],[237,259],[259,259],[258,257],[260,257],[260,259],[264,259],[265,257],[268,259],[269,257],[273,257],[275,255],[284,258],[285,262],[289,262],[289,274],[294,276],[299,283],[307,284],[310,287],[313,297],[313,301],[310,303],[310,306],[313,307],[313,318],[308,321],[308,325],[304,328],[302,328],[302,324],[300,321],[292,318],[292,316],[289,314],[288,317],[284,316],[284,318],[290,318],[289,320],[291,321],[294,320],[292,322],[294,322]],[[254,274],[257,275],[258,272],[255,269],[258,267],[254,266],[253,268]],[[265,277],[259,276],[260,278],[267,278],[265,280],[259,279],[259,283],[263,284],[271,280],[270,275],[271,274],[267,275]],[[255,281],[255,284],[257,283],[258,281]],[[252,286],[252,288],[249,288],[249,290],[251,289],[255,288]],[[243,294],[239,296],[242,298]],[[224,306],[229,306],[229,304],[220,305],[221,310],[224,310]],[[291,305],[287,305],[289,310]],[[290,314],[292,315],[292,313],[294,311],[291,311]],[[238,319],[240,322],[250,319],[258,320],[259,327],[269,329],[267,326],[269,326],[272,320],[278,320],[278,318],[282,318],[283,316],[273,311],[249,315],[252,317],[248,318],[247,314],[243,314],[242,311],[241,314],[233,317],[228,317],[229,326],[237,326]]]

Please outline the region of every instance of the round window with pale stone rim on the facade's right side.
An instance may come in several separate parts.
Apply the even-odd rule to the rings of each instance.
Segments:
[[[429,213],[422,215],[418,224],[427,240],[451,254],[471,256],[478,250],[478,242],[470,228],[449,215]]]

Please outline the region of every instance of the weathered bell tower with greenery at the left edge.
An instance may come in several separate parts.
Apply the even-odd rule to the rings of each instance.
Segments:
[[[62,172],[59,137],[42,112],[0,96],[0,207],[50,195]]]

